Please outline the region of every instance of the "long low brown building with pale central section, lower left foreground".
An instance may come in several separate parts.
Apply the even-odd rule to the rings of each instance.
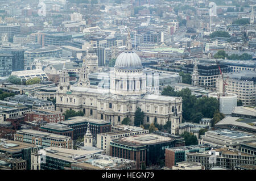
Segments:
[[[14,135],[14,141],[28,142],[33,145],[41,145],[44,148],[53,146],[57,148],[73,149],[72,138],[59,134],[35,131],[32,129],[20,129]]]

